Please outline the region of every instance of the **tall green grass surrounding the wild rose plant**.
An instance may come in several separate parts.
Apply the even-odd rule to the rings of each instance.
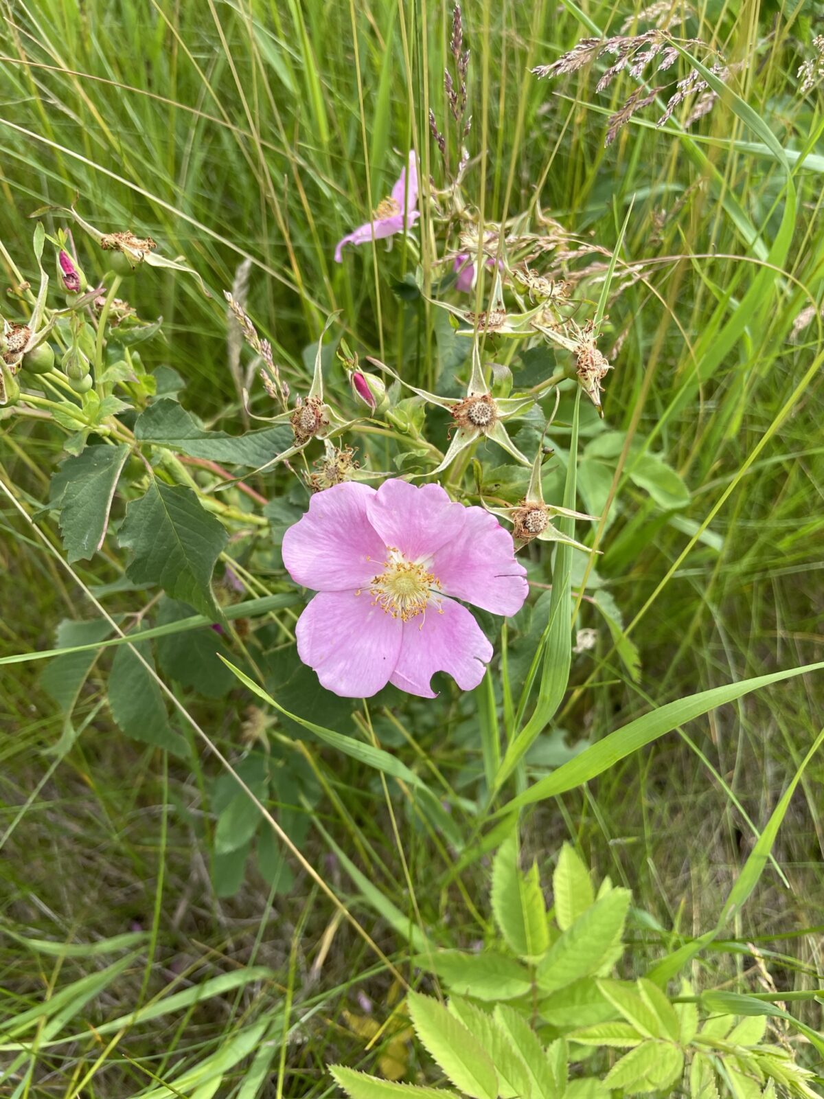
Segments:
[[[308,385],[312,345],[341,310],[347,340],[427,380],[432,324],[397,292],[409,252],[397,244],[374,263],[363,248],[342,267],[332,254],[388,192],[413,141],[434,171],[427,111],[445,122],[447,4],[42,0],[8,2],[3,13],[4,282],[14,281],[12,262],[34,277],[29,215],[77,195],[96,225],[152,235],[211,288],[205,298],[174,271],[141,271],[123,290],[142,317],[163,315],[146,365],[178,371],[185,408],[208,428],[234,433],[243,420],[221,291],[245,258],[249,313],[291,377]],[[597,434],[586,417],[581,429],[583,502],[600,512],[609,492],[616,500],[601,586],[583,609],[602,636],[574,657],[555,725],[500,806],[652,707],[824,658],[822,97],[802,97],[795,76],[822,12],[809,2],[701,5],[688,33],[743,63],[739,100],[722,99],[690,135],[641,114],[606,149],[606,115],[634,86],[597,95],[587,70],[548,84],[528,69],[583,35],[617,33],[630,5],[504,0],[467,3],[464,15],[470,142],[485,154],[468,182],[476,203],[500,218],[539,202],[606,249],[632,208],[622,260],[646,264],[610,310],[622,348],[606,382],[609,432]],[[530,368],[512,366],[516,378]],[[615,477],[627,437],[630,460]],[[0,420],[0,478],[58,553],[66,531],[42,509],[63,459],[45,425]],[[260,488],[278,498],[285,484],[272,474]],[[560,477],[554,489],[557,502]],[[294,506],[285,502],[274,525],[292,521]],[[75,521],[81,530],[83,517]],[[91,618],[91,608],[5,495],[0,524],[0,656],[101,641],[97,623],[55,640],[58,622]],[[101,598],[123,578],[108,548],[76,567]],[[582,567],[572,567],[575,585]],[[595,602],[616,608],[614,633],[604,634]],[[516,624],[515,677],[526,675],[547,609],[542,596]],[[164,599],[155,624],[189,613]],[[7,1047],[19,1036],[29,1055],[24,1074],[9,1076],[14,1095],[159,1099],[169,1079],[199,1099],[215,1080],[243,1099],[325,1095],[330,1061],[374,1070],[343,1012],[357,1011],[364,992],[382,1020],[394,995],[352,920],[407,977],[410,935],[414,946],[415,934],[439,929],[443,945],[467,947],[494,934],[488,868],[458,856],[488,763],[489,699],[447,690],[437,709],[410,702],[353,720],[288,654],[267,669],[267,689],[290,714],[391,752],[448,791],[446,813],[438,798],[415,800],[398,775],[342,755],[282,714],[264,730],[270,751],[254,740],[249,750],[260,732],[247,710],[253,696],[214,667],[199,681],[176,675],[174,639],[186,636],[157,642],[178,699],[338,906],[215,758],[192,751],[171,711],[166,745],[178,751],[169,756],[115,728],[112,715],[132,737],[146,728],[145,710],[124,712],[116,692],[107,700],[101,689],[112,662],[121,682],[140,674],[125,648],[92,669],[75,711],[80,735],[65,755],[54,751],[65,733],[60,692],[73,681],[62,678],[66,665],[49,665],[51,681],[38,664],[0,666],[0,1056],[16,1064]],[[208,689],[215,684],[218,700]],[[167,713],[143,689],[145,707]],[[547,879],[569,840],[599,876],[632,889],[633,956],[645,972],[716,929],[778,807],[775,861],[759,864],[746,907],[728,912],[692,977],[700,989],[764,988],[766,959],[781,990],[805,993],[795,1013],[820,1026],[806,993],[820,985],[824,776],[819,756],[800,767],[821,731],[821,698],[815,676],[776,682],[615,758],[594,781],[544,787],[547,800],[523,817],[525,850]],[[501,821],[499,840],[512,830],[510,817]]]

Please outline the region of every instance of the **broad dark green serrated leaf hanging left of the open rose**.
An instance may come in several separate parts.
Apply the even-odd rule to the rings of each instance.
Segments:
[[[120,544],[133,551],[126,576],[135,584],[157,584],[212,622],[222,617],[212,571],[227,541],[223,525],[190,488],[154,479],[146,495],[129,504],[120,529]]]

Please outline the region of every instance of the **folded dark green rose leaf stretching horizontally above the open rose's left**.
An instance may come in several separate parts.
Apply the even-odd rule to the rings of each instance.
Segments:
[[[288,425],[247,431],[243,435],[208,431],[196,415],[168,397],[141,412],[134,425],[134,435],[140,443],[154,443],[192,458],[250,469],[265,465],[293,442],[293,433]]]

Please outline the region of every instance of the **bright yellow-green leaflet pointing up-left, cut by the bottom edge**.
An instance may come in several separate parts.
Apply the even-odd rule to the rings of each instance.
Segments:
[[[415,1033],[452,1080],[471,1099],[498,1099],[498,1075],[488,1054],[463,1023],[428,996],[410,992]]]

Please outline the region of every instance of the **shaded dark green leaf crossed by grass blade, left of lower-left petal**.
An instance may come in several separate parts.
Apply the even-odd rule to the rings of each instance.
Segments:
[[[192,617],[191,607],[164,596],[157,611],[157,624],[185,622]],[[160,670],[183,687],[191,687],[207,698],[222,698],[235,679],[218,653],[227,655],[220,634],[210,626],[169,633],[156,642]]]

